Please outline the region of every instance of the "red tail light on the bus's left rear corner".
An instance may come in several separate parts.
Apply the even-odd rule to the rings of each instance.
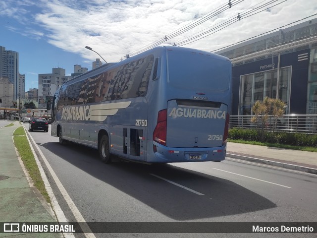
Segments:
[[[158,123],[153,132],[153,140],[166,146],[167,109],[159,111]]]

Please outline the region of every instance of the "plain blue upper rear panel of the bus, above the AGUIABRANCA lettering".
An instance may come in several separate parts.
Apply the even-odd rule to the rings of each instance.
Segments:
[[[214,55],[167,51],[168,83],[173,87],[211,92],[229,89],[231,62]]]

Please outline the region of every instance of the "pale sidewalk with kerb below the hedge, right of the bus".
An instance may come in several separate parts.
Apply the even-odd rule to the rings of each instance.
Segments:
[[[228,142],[227,157],[317,174],[317,153]]]

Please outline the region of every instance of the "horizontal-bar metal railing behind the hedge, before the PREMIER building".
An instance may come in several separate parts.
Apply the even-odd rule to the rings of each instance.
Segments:
[[[253,116],[230,116],[230,127],[257,128],[257,124],[251,122]],[[298,132],[317,134],[317,115],[284,115],[274,123],[274,117],[270,116],[265,123],[265,129],[285,132]]]

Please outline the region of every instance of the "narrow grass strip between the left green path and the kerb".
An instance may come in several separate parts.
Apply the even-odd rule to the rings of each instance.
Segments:
[[[18,127],[14,131],[13,135],[14,135],[13,140],[14,140],[15,147],[17,148],[20,154],[20,157],[24,163],[24,167],[27,169],[27,171],[30,174],[30,177],[34,182],[35,187],[39,189],[39,191],[41,192],[45,200],[48,203],[51,203],[50,196],[48,192],[46,191],[44,181],[41,177],[41,173],[35,161],[33,152],[29,145],[29,141],[26,138],[26,134],[25,134],[25,130],[23,126]]]

